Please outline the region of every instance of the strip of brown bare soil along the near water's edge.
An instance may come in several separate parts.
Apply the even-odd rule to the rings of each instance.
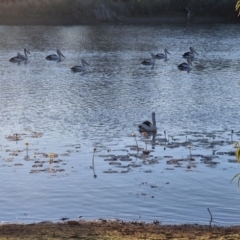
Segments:
[[[161,240],[240,239],[240,226],[161,225],[123,221],[66,221],[37,224],[2,224],[0,240],[81,239],[81,240]]]

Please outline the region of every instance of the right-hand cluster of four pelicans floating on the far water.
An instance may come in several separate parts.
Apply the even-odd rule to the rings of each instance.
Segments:
[[[141,64],[152,66],[152,69],[153,69],[155,66],[156,59],[164,59],[164,61],[168,61],[169,60],[168,54],[170,54],[170,53],[168,52],[167,49],[164,49],[164,53],[158,53],[158,54],[151,53],[152,58],[144,59],[141,62]],[[187,62],[183,62],[183,63],[179,64],[177,66],[178,69],[181,71],[187,71],[189,73],[192,69],[192,62],[195,58],[195,55],[198,55],[198,53],[195,51],[195,49],[193,47],[190,47],[190,51],[185,52],[182,55],[183,58],[185,58],[187,60]]]

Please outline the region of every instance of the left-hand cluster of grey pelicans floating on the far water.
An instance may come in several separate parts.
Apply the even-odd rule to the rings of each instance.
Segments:
[[[30,52],[26,48],[24,48],[23,52],[24,54],[21,54],[18,52],[17,56],[10,58],[9,61],[12,63],[26,62],[28,60],[27,54],[30,54]],[[62,52],[59,49],[57,49],[56,52],[57,54],[48,55],[46,57],[46,60],[60,62],[62,61],[63,58],[65,58],[65,56],[62,54]],[[87,67],[90,65],[84,59],[81,59],[81,62],[82,62],[82,65],[74,66],[71,68],[71,70],[73,72],[85,72]]]

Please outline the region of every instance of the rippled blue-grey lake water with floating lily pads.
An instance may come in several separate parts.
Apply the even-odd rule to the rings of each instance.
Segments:
[[[208,224],[209,208],[239,224],[239,41],[231,24],[0,26],[0,220]],[[190,46],[188,74],[177,65]],[[10,63],[24,47],[29,61]],[[66,59],[46,61],[57,48]],[[140,64],[164,48],[169,61]],[[89,71],[72,73],[81,58]],[[137,129],[152,111],[155,142]]]

